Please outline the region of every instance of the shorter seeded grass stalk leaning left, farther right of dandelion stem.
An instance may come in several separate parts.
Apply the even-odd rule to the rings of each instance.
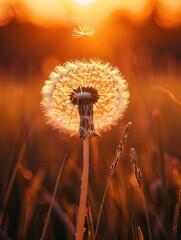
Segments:
[[[136,180],[137,180],[138,185],[139,185],[140,190],[141,190],[141,198],[142,198],[142,201],[143,201],[143,208],[144,208],[145,216],[146,216],[149,240],[151,240],[152,239],[152,234],[151,234],[151,227],[150,227],[150,221],[149,221],[149,216],[148,216],[148,208],[147,208],[147,204],[146,204],[146,198],[145,198],[144,191],[143,191],[143,186],[142,186],[142,175],[141,175],[141,170],[138,167],[137,155],[136,155],[136,151],[135,151],[134,148],[131,148],[130,159],[131,159],[131,162],[132,162],[132,165],[133,165],[133,171],[134,171]]]

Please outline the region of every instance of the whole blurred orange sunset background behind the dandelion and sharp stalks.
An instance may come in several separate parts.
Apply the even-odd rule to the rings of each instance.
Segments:
[[[47,239],[73,239],[81,140],[46,125],[40,91],[56,65],[83,57],[83,40],[72,38],[79,24],[96,29],[87,39],[86,58],[118,66],[130,89],[124,119],[91,139],[93,227],[121,134],[133,123],[97,239],[133,239],[132,216],[148,239],[131,147],[138,155],[153,239],[179,239],[181,0],[0,0],[0,239],[40,239],[65,153]],[[89,231],[85,235],[91,239]]]

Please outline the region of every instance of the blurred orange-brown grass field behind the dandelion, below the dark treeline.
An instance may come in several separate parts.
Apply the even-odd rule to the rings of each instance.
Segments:
[[[154,55],[148,46],[133,51],[118,43],[107,49],[108,61],[117,65],[127,79],[130,103],[118,126],[90,140],[84,239],[95,239],[106,185],[97,240],[150,240],[148,218],[153,240],[181,239],[181,60],[168,53]],[[104,54],[102,50],[100,57],[105,59]],[[51,61],[56,62],[56,56]],[[48,63],[44,59],[36,70],[30,66],[22,72],[16,65],[9,70],[0,68],[2,240],[41,238],[65,154],[46,239],[75,237],[82,141],[64,136],[45,123],[40,91],[52,70],[50,66],[53,68],[52,62],[50,66]],[[109,178],[128,122],[132,122],[130,133]],[[131,148],[136,151],[134,170],[141,171],[141,187],[133,171]]]

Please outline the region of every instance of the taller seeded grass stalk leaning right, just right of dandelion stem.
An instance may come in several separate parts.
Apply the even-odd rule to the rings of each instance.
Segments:
[[[100,209],[99,209],[99,214],[98,214],[98,218],[97,218],[97,224],[96,224],[96,230],[95,230],[95,239],[97,237],[97,232],[98,232],[98,228],[99,228],[101,213],[102,213],[105,197],[106,197],[106,194],[107,194],[108,186],[109,186],[111,177],[112,177],[113,173],[115,172],[116,167],[118,165],[118,162],[119,162],[119,160],[120,160],[120,158],[122,156],[123,148],[124,148],[124,145],[126,143],[127,137],[129,135],[131,126],[132,126],[132,123],[128,122],[128,124],[126,125],[126,127],[125,127],[125,129],[123,131],[123,134],[121,136],[120,143],[119,143],[119,145],[117,147],[115,158],[114,158],[114,162],[111,165],[110,175],[109,175],[107,183],[106,183],[106,187],[105,187],[105,190],[104,190],[104,194],[103,194],[103,197],[102,197],[102,201],[101,201],[101,205],[100,205]]]

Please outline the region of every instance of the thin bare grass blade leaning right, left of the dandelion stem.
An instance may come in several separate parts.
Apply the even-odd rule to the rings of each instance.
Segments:
[[[59,173],[58,173],[58,176],[57,176],[57,180],[56,180],[55,188],[54,188],[53,195],[52,195],[52,198],[51,198],[51,201],[50,201],[50,206],[49,206],[49,209],[48,209],[47,218],[46,218],[45,225],[44,225],[44,228],[43,228],[41,240],[44,240],[45,236],[46,236],[46,231],[47,231],[47,228],[48,228],[52,207],[53,207],[53,204],[55,202],[55,196],[56,196],[56,193],[57,193],[60,177],[61,177],[62,170],[63,170],[66,159],[67,159],[67,153],[65,154],[63,163],[60,167],[60,170],[59,170]]]

